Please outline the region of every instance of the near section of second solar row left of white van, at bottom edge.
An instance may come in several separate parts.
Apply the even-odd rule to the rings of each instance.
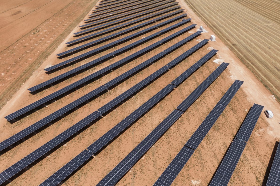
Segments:
[[[172,160],[172,162],[168,165],[168,167],[164,170],[162,175],[155,182],[154,186],[166,186],[171,185],[171,183],[178,176],[180,171],[183,169],[185,164],[188,162],[190,157],[192,156],[194,150],[183,146],[183,148],[179,151],[177,156]]]

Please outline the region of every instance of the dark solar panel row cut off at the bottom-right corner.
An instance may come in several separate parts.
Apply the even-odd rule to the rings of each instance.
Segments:
[[[280,145],[278,144],[266,186],[280,185]]]

